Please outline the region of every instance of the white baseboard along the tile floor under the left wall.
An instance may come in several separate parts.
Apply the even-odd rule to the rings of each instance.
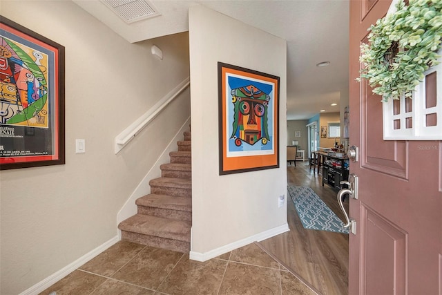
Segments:
[[[71,272],[75,271],[78,267],[81,267],[81,265],[84,265],[84,263],[87,263],[90,259],[94,258],[98,254],[102,253],[104,250],[108,249],[108,247],[111,247],[116,242],[118,242],[118,236],[115,236],[111,238],[111,240],[108,240],[107,242],[104,242],[104,244],[98,246],[97,248],[93,249],[92,251],[88,252],[84,256],[81,256],[77,260],[75,260],[73,263],[70,263],[69,265],[66,265],[66,267],[63,267],[55,274],[52,274],[45,278],[44,280],[41,280],[39,283],[33,285],[29,289],[26,289],[25,291],[21,292],[19,295],[34,295],[39,294],[43,292],[44,290],[48,289],[48,287],[54,285],[57,283],[61,278],[64,278]]]

